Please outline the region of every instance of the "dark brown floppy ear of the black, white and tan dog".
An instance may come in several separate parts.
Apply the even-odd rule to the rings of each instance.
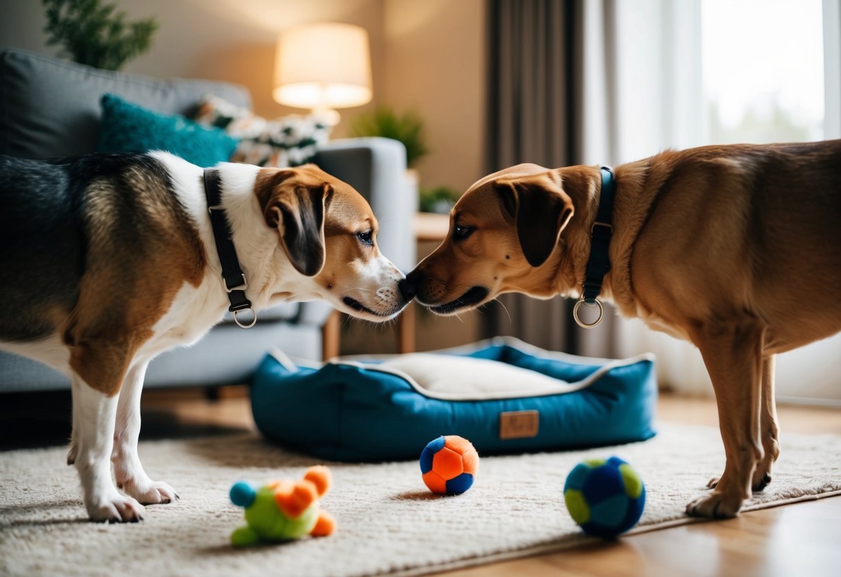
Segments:
[[[324,267],[324,214],[332,194],[330,184],[303,183],[294,169],[273,172],[258,183],[266,224],[278,228],[289,262],[308,277]]]

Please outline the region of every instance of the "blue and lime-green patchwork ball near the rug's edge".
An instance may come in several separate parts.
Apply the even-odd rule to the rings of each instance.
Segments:
[[[616,537],[639,521],[645,507],[645,484],[621,458],[579,463],[563,485],[569,514],[584,532]]]

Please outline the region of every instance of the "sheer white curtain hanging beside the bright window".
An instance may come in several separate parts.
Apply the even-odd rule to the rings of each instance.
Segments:
[[[600,0],[582,3],[584,77],[577,129],[585,164],[621,164],[665,148],[708,144],[702,86],[701,3],[704,0]],[[826,138],[841,136],[841,14],[822,0]],[[791,9],[796,9],[795,3]],[[726,39],[721,39],[726,41]],[[792,304],[796,305],[796,304]],[[685,341],[616,319],[613,350],[657,355],[661,384],[711,394],[701,354]],[[586,351],[587,336],[580,338]],[[592,340],[592,339],[591,339]],[[593,343],[597,347],[598,343]],[[780,355],[778,398],[841,400],[841,336]]]

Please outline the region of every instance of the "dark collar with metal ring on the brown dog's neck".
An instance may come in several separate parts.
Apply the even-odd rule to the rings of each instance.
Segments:
[[[584,273],[584,289],[581,291],[581,298],[575,303],[573,309],[575,322],[585,329],[598,325],[605,315],[605,310],[597,297],[601,293],[601,283],[607,271],[611,270],[608,250],[611,246],[611,236],[613,236],[611,220],[614,196],[616,196],[616,177],[613,176],[613,169],[601,167],[599,209],[595,214],[593,228],[590,230],[590,259],[587,261],[587,270]],[[599,308],[599,318],[595,322],[585,323],[579,319],[578,310],[582,304]]]

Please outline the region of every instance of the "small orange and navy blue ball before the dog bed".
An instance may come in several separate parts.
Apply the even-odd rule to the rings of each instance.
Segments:
[[[421,453],[421,473],[433,493],[461,495],[473,486],[479,473],[479,453],[463,437],[438,437]]]

